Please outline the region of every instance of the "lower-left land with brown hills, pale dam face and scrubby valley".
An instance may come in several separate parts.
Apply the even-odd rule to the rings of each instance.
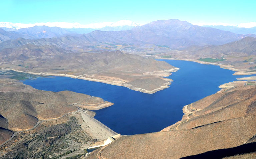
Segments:
[[[94,119],[95,112],[90,111],[111,105],[99,97],[42,91],[15,79],[1,78],[0,157],[85,155],[90,146],[117,135]]]

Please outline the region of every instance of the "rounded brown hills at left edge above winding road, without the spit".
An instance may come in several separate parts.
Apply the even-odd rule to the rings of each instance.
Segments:
[[[11,130],[28,129],[38,119],[57,118],[77,110],[68,105],[64,96],[48,91],[0,93],[0,100],[1,115],[8,119],[8,129]]]

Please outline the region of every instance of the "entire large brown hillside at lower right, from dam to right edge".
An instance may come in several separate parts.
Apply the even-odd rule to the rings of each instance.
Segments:
[[[123,136],[90,158],[222,158],[247,153],[242,147],[255,151],[255,100],[252,85],[208,96],[185,106],[183,120],[162,132]]]

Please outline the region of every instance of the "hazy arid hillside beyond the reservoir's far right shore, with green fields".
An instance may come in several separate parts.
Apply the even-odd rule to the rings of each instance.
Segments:
[[[256,73],[256,38],[245,37],[223,45],[191,46],[147,56],[214,64],[236,71],[236,75],[250,75]]]

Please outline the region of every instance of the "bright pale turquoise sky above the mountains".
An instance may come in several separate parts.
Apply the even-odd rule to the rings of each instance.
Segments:
[[[192,24],[256,22],[255,0],[1,0],[0,21],[145,24],[179,19]]]

